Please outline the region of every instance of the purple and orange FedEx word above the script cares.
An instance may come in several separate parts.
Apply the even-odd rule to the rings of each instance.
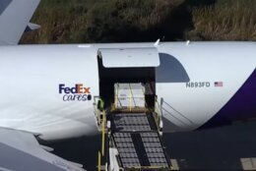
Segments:
[[[91,93],[91,87],[84,87],[82,84],[75,85],[74,87],[66,87],[64,84],[59,85],[59,93]]]

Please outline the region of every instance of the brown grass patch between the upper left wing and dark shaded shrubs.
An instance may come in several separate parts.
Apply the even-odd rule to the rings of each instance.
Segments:
[[[39,30],[25,33],[22,43],[67,43],[78,40],[78,32],[86,25],[93,0],[42,0],[32,22]]]

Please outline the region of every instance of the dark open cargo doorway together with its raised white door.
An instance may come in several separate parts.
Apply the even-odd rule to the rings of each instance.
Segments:
[[[138,88],[141,85],[141,89],[145,90],[147,107],[154,108],[156,66],[160,63],[159,54],[155,48],[99,49],[97,63],[99,96],[104,100],[105,107],[111,107],[115,103],[117,85],[134,86],[131,88],[135,89],[135,86]]]

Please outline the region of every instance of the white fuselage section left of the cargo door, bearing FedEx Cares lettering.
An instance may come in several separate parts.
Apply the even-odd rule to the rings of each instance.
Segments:
[[[96,50],[77,45],[0,47],[0,127],[59,140],[96,134],[93,99],[59,93],[59,85],[98,95]],[[65,101],[64,101],[65,96]],[[68,98],[69,99],[66,99]],[[75,99],[73,99],[75,97]]]

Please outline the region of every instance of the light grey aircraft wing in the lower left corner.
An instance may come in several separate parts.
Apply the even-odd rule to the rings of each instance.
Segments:
[[[31,133],[0,128],[0,170],[85,171],[82,165],[60,158],[40,145]]]

